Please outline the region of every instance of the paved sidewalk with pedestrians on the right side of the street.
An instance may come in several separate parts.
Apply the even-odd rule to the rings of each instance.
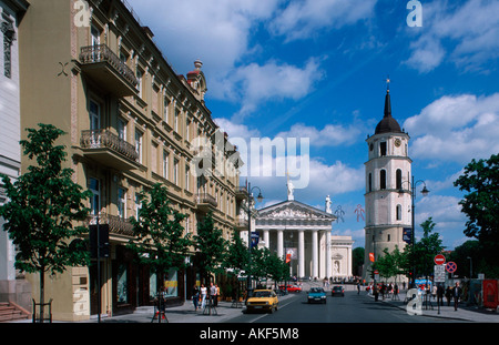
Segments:
[[[365,292],[364,292],[365,293]],[[368,294],[369,297],[374,298],[373,295]],[[406,292],[400,292],[398,295],[399,300],[394,301],[391,296],[386,296],[381,300],[379,295],[378,302],[388,303],[400,310],[407,311],[407,304],[404,303],[406,300]],[[440,313],[438,313],[438,306],[436,300],[430,300],[430,303],[426,306],[422,303],[421,315],[429,317],[439,317],[448,319],[461,319],[477,323],[499,323],[499,313],[493,311],[487,311],[486,308],[478,306],[467,306],[466,302],[459,303],[458,310],[454,310],[454,301],[450,301],[450,306],[447,306],[447,301],[444,298],[444,306],[440,306]],[[415,315],[418,317],[418,315]]]

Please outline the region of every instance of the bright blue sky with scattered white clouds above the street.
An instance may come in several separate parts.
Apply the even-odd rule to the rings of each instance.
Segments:
[[[364,246],[355,210],[365,140],[383,118],[389,75],[413,174],[431,191],[416,199],[416,224],[432,216],[447,248],[467,240],[452,182],[471,159],[499,152],[498,1],[421,0],[421,27],[407,24],[405,0],[128,2],[177,73],[203,61],[206,105],[230,138],[309,139],[310,181],[295,199],[324,209],[330,195],[345,212],[333,232],[355,246]],[[263,205],[286,199],[285,176],[248,180]]]

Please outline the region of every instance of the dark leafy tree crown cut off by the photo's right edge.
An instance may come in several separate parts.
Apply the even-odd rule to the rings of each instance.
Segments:
[[[499,154],[488,160],[471,160],[455,182],[467,192],[459,202],[468,216],[465,234],[480,242],[482,255],[491,266],[499,265]]]

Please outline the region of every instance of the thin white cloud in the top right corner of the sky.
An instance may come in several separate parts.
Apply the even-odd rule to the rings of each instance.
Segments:
[[[406,63],[420,72],[431,71],[444,61],[464,70],[483,70],[485,63],[499,58],[498,12],[498,1],[425,2],[422,28],[406,29],[419,35],[410,43],[411,55]]]

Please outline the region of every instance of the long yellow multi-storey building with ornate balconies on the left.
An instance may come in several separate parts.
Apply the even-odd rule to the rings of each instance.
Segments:
[[[238,224],[243,195],[238,160],[233,160],[237,152],[226,150],[227,136],[205,105],[202,63],[195,61],[193,71],[177,75],[151,30],[122,1],[30,0],[19,37],[21,129],[42,122],[68,133],[61,139],[67,163],[74,180],[93,192],[88,224],[99,215],[99,223],[109,225],[101,311],[112,315],[150,305],[161,283],[125,248],[139,193],[163,183],[173,206],[187,215],[190,233],[208,211],[225,239]],[[208,138],[208,148],[193,144],[200,136]],[[217,163],[207,176],[193,173],[201,149]],[[23,172],[27,164],[22,158]],[[45,278],[54,319],[86,319],[98,313],[96,271],[94,260],[90,268],[69,267]],[[185,272],[169,273],[170,303],[190,297],[195,271],[192,263]],[[38,301],[38,276],[29,280]]]

